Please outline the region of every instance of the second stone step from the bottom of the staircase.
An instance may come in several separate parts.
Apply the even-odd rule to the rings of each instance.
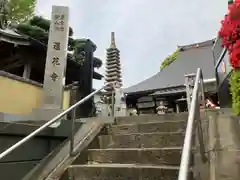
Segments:
[[[182,147],[88,150],[88,163],[180,165]]]

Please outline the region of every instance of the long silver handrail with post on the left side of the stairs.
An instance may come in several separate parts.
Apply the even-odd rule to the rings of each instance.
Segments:
[[[18,147],[22,146],[23,144],[25,144],[26,142],[28,142],[29,140],[31,140],[34,136],[36,136],[37,134],[39,134],[40,132],[42,132],[43,130],[45,130],[47,127],[51,126],[53,123],[61,120],[61,118],[65,115],[67,115],[69,112],[71,111],[75,111],[75,109],[83,104],[84,102],[86,102],[87,100],[89,100],[91,97],[93,97],[95,94],[97,94],[99,91],[101,91],[102,89],[104,89],[106,86],[108,85],[113,85],[114,87],[114,83],[106,83],[104,86],[102,86],[101,88],[97,89],[96,91],[92,92],[91,94],[87,95],[86,97],[84,97],[83,99],[81,99],[80,101],[78,101],[77,103],[75,103],[74,105],[72,105],[71,107],[69,107],[68,109],[66,109],[65,111],[63,111],[62,113],[60,113],[59,115],[55,116],[54,118],[52,118],[50,121],[48,121],[47,123],[45,123],[44,125],[42,125],[41,127],[39,127],[38,129],[36,129],[35,131],[33,131],[32,133],[30,133],[28,136],[26,136],[25,138],[23,138],[22,140],[18,141],[16,144],[12,145],[11,147],[9,147],[7,150],[5,150],[4,152],[2,152],[0,154],[0,160],[3,159],[5,156],[7,156],[8,154],[10,154],[12,151],[14,151],[15,149],[17,149]],[[72,123],[74,123],[75,121],[75,116],[72,117]],[[72,134],[71,134],[71,138],[70,138],[70,155],[73,154],[73,141],[74,141],[74,125],[72,126]]]

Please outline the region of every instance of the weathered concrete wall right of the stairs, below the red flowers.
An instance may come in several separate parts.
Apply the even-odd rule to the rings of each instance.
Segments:
[[[194,175],[196,180],[240,179],[240,117],[232,116],[231,109],[209,110],[202,113],[205,154],[203,163],[196,136]]]

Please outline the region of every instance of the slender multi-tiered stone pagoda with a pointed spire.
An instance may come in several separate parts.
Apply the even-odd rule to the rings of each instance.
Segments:
[[[111,33],[111,44],[107,49],[107,59],[106,59],[106,73],[105,82],[112,83],[116,82],[121,87],[122,86],[122,75],[121,75],[121,64],[120,64],[120,51],[116,47],[114,32]],[[105,88],[106,96],[110,97],[112,94],[112,87],[107,86]]]

